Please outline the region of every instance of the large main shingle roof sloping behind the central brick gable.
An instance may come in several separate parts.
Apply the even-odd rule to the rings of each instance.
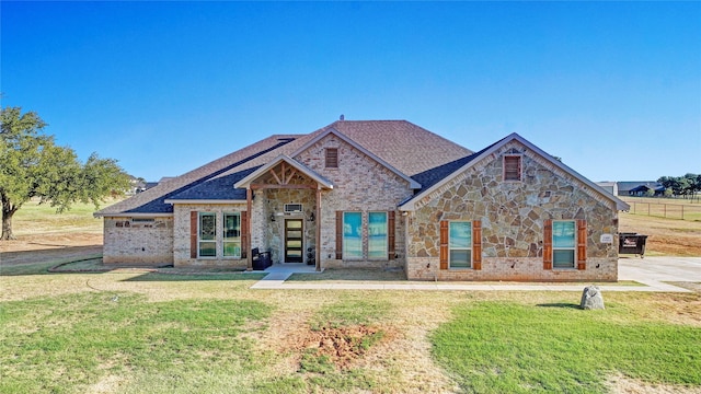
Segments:
[[[338,120],[308,135],[275,135],[176,176],[146,192],[106,207],[95,216],[124,213],[172,213],[166,199],[241,199],[233,184],[248,170],[267,164],[280,154],[291,154],[329,128],[350,138],[366,150],[411,176],[439,176],[437,167],[466,159],[472,151],[406,120]],[[447,164],[446,164],[447,165]],[[244,174],[244,175],[242,175]],[[432,181],[435,182],[435,181]],[[217,197],[218,196],[218,197]]]

